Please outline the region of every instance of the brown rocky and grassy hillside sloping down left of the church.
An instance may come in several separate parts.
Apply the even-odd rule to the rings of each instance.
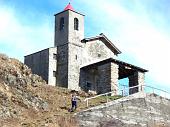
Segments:
[[[68,113],[71,94],[0,54],[0,127],[77,127]]]

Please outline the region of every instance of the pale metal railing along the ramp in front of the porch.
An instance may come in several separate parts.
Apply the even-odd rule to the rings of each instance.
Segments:
[[[159,88],[148,86],[148,85],[138,85],[138,86],[133,86],[133,87],[127,87],[125,85],[121,85],[121,86],[123,86],[123,88],[118,90],[118,95],[121,95],[122,97],[129,96],[129,95],[132,95],[134,93],[144,91],[145,93],[154,93],[154,94],[160,95],[164,98],[170,98],[169,92],[162,90],[162,89],[159,89]],[[106,103],[107,103],[107,102],[109,102],[108,96],[115,95],[116,92],[117,91],[114,90],[114,91],[107,92],[107,93],[104,93],[104,94],[99,94],[99,95],[96,95],[96,96],[93,96],[93,97],[86,98],[84,101],[86,101],[86,106],[89,107],[89,100],[92,100],[92,99],[95,99],[95,98],[98,98],[98,97],[101,97],[101,96],[106,96]]]

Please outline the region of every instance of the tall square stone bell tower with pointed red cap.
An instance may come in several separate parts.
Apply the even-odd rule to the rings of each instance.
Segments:
[[[69,3],[55,14],[55,41],[57,47],[56,84],[78,90],[84,39],[84,15],[78,13]]]

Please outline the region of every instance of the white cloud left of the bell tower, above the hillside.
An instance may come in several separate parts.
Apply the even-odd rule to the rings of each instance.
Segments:
[[[34,21],[24,25],[20,18],[22,17],[16,16],[15,10],[0,9],[0,45],[7,45],[14,50],[7,51],[6,54],[11,55],[9,52],[18,50],[18,58],[23,58],[24,55],[53,46],[50,45],[53,44],[53,29],[50,28],[49,21],[45,19],[38,26],[31,25]]]

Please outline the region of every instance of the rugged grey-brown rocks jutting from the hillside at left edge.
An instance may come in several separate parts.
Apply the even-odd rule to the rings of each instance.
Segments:
[[[28,90],[40,84],[45,81],[26,65],[0,54],[0,119],[17,118],[23,109],[47,110],[48,104]]]

